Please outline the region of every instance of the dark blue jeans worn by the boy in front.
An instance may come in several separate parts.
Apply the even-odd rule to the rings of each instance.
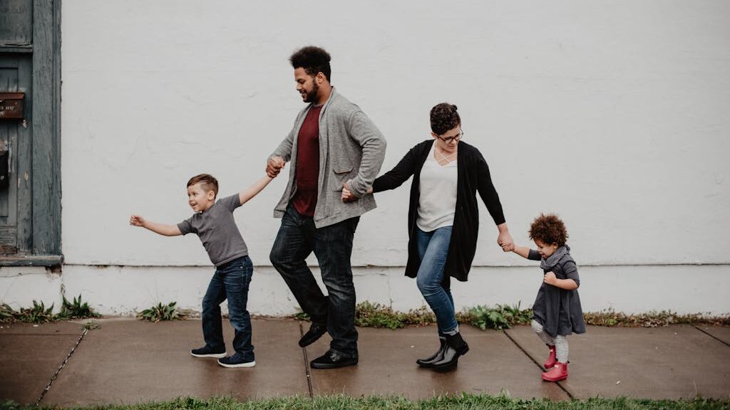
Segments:
[[[203,338],[214,351],[226,349],[221,327],[220,303],[228,299],[228,320],[235,330],[233,348],[242,360],[252,361],[251,317],[246,310],[253,263],[243,256],[215,269],[203,298]]]

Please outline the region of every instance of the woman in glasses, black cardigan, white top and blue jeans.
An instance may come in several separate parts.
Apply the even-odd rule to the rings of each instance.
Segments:
[[[444,369],[457,365],[458,357],[469,350],[458,331],[450,277],[466,281],[472,267],[479,230],[477,191],[499,228],[497,243],[503,250],[510,250],[512,236],[484,157],[461,142],[464,131],[455,105],[442,103],[431,109],[431,131],[432,139],[412,147],[368,192],[392,190],[413,176],[406,276],[416,278],[434,311],[441,342],[438,352],[416,363]],[[353,199],[347,185],[342,199]]]

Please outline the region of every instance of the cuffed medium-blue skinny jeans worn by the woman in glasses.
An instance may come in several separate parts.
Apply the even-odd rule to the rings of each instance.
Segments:
[[[456,311],[451,290],[444,287],[444,266],[451,243],[451,228],[445,226],[435,231],[423,232],[416,227],[416,246],[420,266],[416,276],[416,284],[426,303],[436,314],[439,335],[456,330]]]

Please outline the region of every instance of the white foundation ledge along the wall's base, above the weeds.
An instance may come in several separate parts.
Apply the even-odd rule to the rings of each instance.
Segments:
[[[319,276],[318,268],[312,271]],[[579,271],[584,312],[730,313],[730,265],[579,266]],[[181,309],[199,310],[212,272],[210,266],[64,265],[60,272],[6,266],[0,268],[0,301],[18,309],[36,300],[58,309],[65,292],[67,298],[82,295],[96,312],[107,315],[134,314],[171,301]],[[398,311],[425,303],[402,267],[355,267],[353,275],[358,302],[382,303]],[[469,282],[452,282],[452,292],[457,309],[496,303],[529,307],[541,282],[542,271],[536,267],[475,266]],[[248,309],[286,316],[298,312],[298,305],[274,268],[258,266]]]

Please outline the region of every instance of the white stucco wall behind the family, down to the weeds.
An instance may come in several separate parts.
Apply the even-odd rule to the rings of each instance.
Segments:
[[[199,304],[210,261],[198,239],[128,217],[188,217],[194,174],[214,174],[223,195],[261,176],[303,107],[288,56],[310,44],[388,139],[384,170],[429,137],[434,104],[457,104],[515,241],[529,244],[540,212],[566,222],[588,310],[730,312],[727,1],[74,0],[62,39],[61,276],[107,312],[157,295]],[[400,277],[407,185],[376,197],[353,251],[358,298],[400,309],[422,303]],[[261,278],[252,312],[294,306],[268,260],[284,186],[237,211]],[[458,303],[531,304],[537,267],[496,247],[482,211]]]

